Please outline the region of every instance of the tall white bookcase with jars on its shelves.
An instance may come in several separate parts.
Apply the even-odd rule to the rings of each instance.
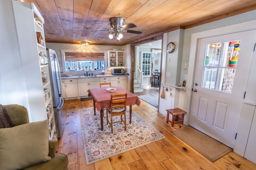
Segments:
[[[49,119],[49,138],[55,138],[56,127],[51,94],[48,64],[41,65],[39,53],[46,55],[44,41],[44,18],[33,3],[12,1],[15,30],[20,49],[20,62],[26,83],[26,95],[30,122]],[[40,40],[38,40],[38,36]],[[42,81],[42,72],[46,72],[47,82]],[[50,97],[45,97],[44,90],[49,88]],[[52,106],[52,113],[47,116],[46,108]]]

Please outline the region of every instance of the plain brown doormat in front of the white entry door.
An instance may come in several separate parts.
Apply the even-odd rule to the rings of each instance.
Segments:
[[[172,134],[212,162],[233,151],[232,148],[191,126],[174,130]]]

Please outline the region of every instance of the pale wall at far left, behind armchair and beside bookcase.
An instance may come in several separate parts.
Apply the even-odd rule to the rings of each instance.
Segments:
[[[0,104],[18,104],[29,111],[16,26],[10,0],[0,1]],[[30,118],[31,119],[31,118]]]

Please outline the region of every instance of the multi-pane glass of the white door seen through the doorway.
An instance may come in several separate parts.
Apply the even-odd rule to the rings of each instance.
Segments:
[[[141,71],[143,77],[151,77],[151,52],[141,52]]]

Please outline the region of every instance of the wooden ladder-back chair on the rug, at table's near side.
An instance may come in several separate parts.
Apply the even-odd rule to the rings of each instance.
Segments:
[[[124,122],[124,130],[126,130],[126,102],[127,93],[111,95],[110,107],[107,109],[107,125],[108,123],[111,125],[111,133],[113,133],[113,124],[118,122]],[[108,120],[108,114],[110,115],[110,121]],[[120,116],[120,121],[113,122],[115,116]]]

